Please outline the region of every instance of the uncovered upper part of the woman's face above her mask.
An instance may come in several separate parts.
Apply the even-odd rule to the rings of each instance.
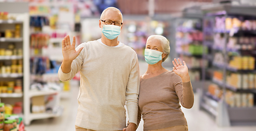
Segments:
[[[152,39],[147,40],[146,49],[163,52],[162,58],[164,58],[166,56],[166,54],[164,53],[164,49],[162,48],[162,44],[160,43],[160,41],[158,39],[152,38]]]

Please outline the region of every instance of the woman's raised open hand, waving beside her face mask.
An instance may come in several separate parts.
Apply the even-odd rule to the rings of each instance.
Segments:
[[[174,62],[175,61],[175,62]],[[173,63],[173,72],[176,73],[177,75],[179,75],[181,78],[184,78],[185,76],[188,75],[188,67],[187,64],[185,63],[185,61],[183,61],[183,64],[181,62],[181,60],[178,58],[178,61],[176,58],[174,58],[174,61],[172,61]]]

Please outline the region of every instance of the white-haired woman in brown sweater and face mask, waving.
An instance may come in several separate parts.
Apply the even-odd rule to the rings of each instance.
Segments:
[[[138,99],[138,123],[142,114],[144,130],[188,130],[181,110],[181,105],[190,109],[194,104],[188,67],[176,58],[172,61],[172,71],[162,67],[169,53],[170,44],[165,37],[151,35],[148,38],[144,53],[148,69],[141,76]]]

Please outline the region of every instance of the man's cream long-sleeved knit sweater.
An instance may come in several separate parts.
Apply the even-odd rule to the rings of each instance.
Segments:
[[[80,71],[78,113],[75,126],[92,130],[123,130],[125,102],[129,121],[137,124],[139,67],[135,51],[110,47],[98,40],[80,44],[84,49],[72,62],[71,72],[59,69],[61,81]],[[70,105],[72,106],[72,105]]]

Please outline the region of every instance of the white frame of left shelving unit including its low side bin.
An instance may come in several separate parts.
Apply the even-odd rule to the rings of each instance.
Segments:
[[[36,96],[46,96],[55,94],[56,96],[56,104],[60,103],[60,95],[59,91],[56,90],[31,90],[31,73],[30,73],[30,14],[28,13],[29,3],[1,3],[0,11],[7,11],[9,14],[13,13],[14,15],[19,15],[19,20],[0,20],[0,26],[2,24],[7,25],[5,28],[11,27],[11,25],[21,24],[21,38],[0,38],[1,43],[16,43],[17,46],[22,47],[23,55],[22,56],[0,56],[0,61],[10,61],[11,59],[23,59],[23,73],[22,74],[0,74],[0,79],[4,80],[13,80],[16,78],[23,80],[23,93],[1,93],[0,98],[4,100],[9,100],[10,98],[20,99],[23,101],[23,114],[21,115],[24,117],[24,123],[29,125],[32,120],[37,120],[41,118],[50,118],[50,117],[57,117],[61,115],[60,111],[54,112],[45,112],[45,113],[38,113],[33,114],[31,112],[31,98]],[[19,7],[18,9],[16,9]],[[13,10],[15,9],[15,10]],[[47,15],[48,16],[48,15]],[[22,18],[22,19],[21,19]],[[2,28],[2,27],[1,27]],[[4,28],[4,29],[5,29]],[[40,33],[40,32],[37,32]],[[1,99],[2,100],[2,99]]]

